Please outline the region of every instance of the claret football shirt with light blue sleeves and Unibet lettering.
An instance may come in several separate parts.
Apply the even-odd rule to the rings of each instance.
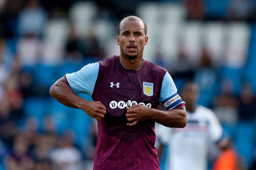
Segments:
[[[98,121],[94,170],[160,170],[154,143],[154,120],[127,126],[126,107],[141,104],[167,110],[184,103],[170,74],[162,67],[143,60],[134,71],[122,66],[120,56],[84,66],[66,74],[75,93],[86,93],[107,108]]]

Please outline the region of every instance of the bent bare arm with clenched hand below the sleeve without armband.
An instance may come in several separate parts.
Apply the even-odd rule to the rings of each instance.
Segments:
[[[104,118],[106,114],[106,107],[100,101],[88,101],[75,94],[68,85],[65,77],[60,78],[51,86],[50,95],[61,104],[82,109],[90,117],[97,120]]]

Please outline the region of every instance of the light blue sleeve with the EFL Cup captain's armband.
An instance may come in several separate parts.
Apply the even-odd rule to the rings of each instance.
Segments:
[[[166,110],[171,110],[177,105],[185,103],[177,94],[177,88],[168,72],[164,75],[159,103],[162,103]]]

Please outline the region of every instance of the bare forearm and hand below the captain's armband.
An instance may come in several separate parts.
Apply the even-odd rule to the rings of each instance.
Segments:
[[[139,121],[146,119],[153,119],[157,123],[167,127],[185,127],[187,122],[185,106],[162,111],[138,104],[127,108],[126,118],[129,122],[132,122],[127,123],[128,126],[134,126]]]

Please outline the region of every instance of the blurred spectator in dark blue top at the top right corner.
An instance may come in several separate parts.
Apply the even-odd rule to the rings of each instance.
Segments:
[[[228,10],[228,18],[232,20],[248,19],[249,11],[248,0],[232,0]]]

